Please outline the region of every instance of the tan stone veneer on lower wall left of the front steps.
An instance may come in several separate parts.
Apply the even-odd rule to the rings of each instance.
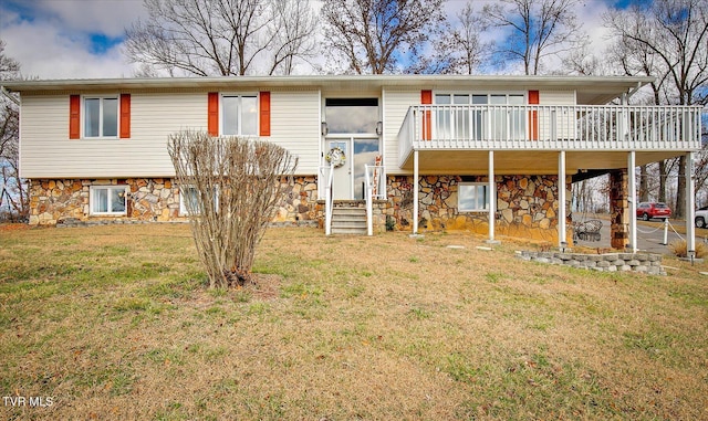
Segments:
[[[316,220],[317,186],[314,176],[283,180],[285,197],[278,206],[274,222]],[[91,186],[127,186],[125,215],[91,215]],[[179,214],[179,188],[169,178],[128,179],[34,179],[30,180],[30,224],[77,221],[186,221]]]

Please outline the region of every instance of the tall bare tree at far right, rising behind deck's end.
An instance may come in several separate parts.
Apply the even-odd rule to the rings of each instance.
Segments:
[[[708,3],[705,0],[654,0],[649,7],[614,10],[605,24],[622,40],[646,50],[660,62],[658,75],[666,103],[708,103]],[[663,171],[664,172],[664,171]],[[678,162],[675,214],[685,214],[686,157]]]

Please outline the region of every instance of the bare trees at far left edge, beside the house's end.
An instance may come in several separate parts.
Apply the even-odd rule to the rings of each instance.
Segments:
[[[0,40],[0,82],[20,77],[20,64],[4,54]],[[27,183],[20,178],[19,98],[3,92],[0,95],[0,208],[7,207],[12,219],[29,214]]]

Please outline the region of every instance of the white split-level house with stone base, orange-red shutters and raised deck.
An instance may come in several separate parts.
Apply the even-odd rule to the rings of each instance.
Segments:
[[[189,128],[260,137],[299,157],[279,221],[355,232],[366,220],[346,217],[355,212],[348,208],[368,209],[369,232],[385,224],[414,233],[462,229],[492,241],[504,234],[560,244],[570,239],[570,182],[610,172],[612,244],[634,248],[635,166],[691,158],[700,148],[699,107],[626,105],[652,81],[371,75],[3,84],[21,96],[31,224],[184,219],[166,145],[169,134]],[[694,197],[691,179],[688,213]],[[693,214],[687,221],[693,233]]]

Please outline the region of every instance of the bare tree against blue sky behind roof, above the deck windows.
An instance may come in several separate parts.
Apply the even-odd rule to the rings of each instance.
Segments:
[[[524,74],[540,74],[551,55],[575,49],[581,25],[573,7],[579,0],[501,0],[486,4],[482,15],[488,27],[510,30],[499,42],[502,59],[521,61]]]

